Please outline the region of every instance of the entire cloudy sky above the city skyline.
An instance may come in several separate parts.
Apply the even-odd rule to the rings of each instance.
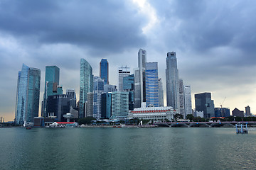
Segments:
[[[251,107],[256,114],[256,1],[241,0],[0,0],[0,117],[14,120],[18,71],[60,68],[60,85],[79,98],[80,59],[99,76],[100,60],[137,67],[137,52],[158,62],[165,88],[167,52],[194,94],[210,92],[215,107]],[[165,95],[165,94],[164,94]],[[225,98],[225,101],[224,101]],[[224,102],[223,102],[224,101]],[[39,112],[40,115],[40,112]]]

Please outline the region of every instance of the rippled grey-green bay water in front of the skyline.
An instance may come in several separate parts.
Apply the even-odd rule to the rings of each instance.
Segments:
[[[256,131],[0,128],[1,169],[256,169]]]

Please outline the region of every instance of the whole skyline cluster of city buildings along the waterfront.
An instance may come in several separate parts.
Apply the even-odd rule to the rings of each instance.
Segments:
[[[146,50],[139,49],[138,67],[132,74],[127,66],[118,68],[118,86],[110,84],[109,67],[107,59],[102,59],[97,77],[92,74],[90,63],[80,60],[80,98],[77,101],[75,89],[67,89],[63,94],[60,69],[46,66],[42,120],[38,117],[41,71],[23,64],[18,72],[15,123],[62,123],[67,118],[85,117],[159,121],[171,120],[175,114],[183,118],[191,114],[202,118],[230,116],[229,108],[214,108],[210,93],[195,94],[196,109],[192,110],[191,86],[178,77],[176,52],[168,52],[166,57],[166,106],[158,63],[146,61]],[[245,113],[235,108],[233,115],[248,116],[250,107],[245,108]]]

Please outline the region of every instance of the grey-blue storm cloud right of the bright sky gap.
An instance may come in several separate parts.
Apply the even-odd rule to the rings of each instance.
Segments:
[[[161,28],[169,46],[196,53],[230,47],[230,50],[233,48],[244,54],[233,56],[240,64],[256,64],[255,1],[151,3],[157,14],[164,18]]]

